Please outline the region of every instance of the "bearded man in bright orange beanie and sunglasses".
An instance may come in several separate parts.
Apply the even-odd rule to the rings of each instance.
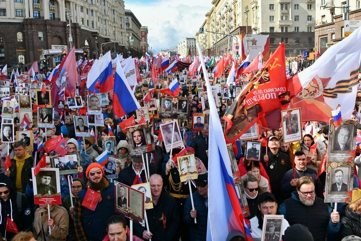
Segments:
[[[114,184],[104,176],[103,166],[99,163],[91,163],[86,170],[86,177],[89,179],[87,190],[79,191],[74,202],[74,228],[78,240],[103,240],[106,236],[106,223],[114,213]],[[100,193],[97,203],[93,203],[95,210],[84,205],[91,192]]]

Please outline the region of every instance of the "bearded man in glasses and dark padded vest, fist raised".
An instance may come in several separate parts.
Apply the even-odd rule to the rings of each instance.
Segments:
[[[305,225],[314,240],[325,240],[326,234],[340,230],[340,215],[334,212],[323,199],[316,197],[315,185],[310,177],[301,177],[292,192],[279,207],[279,213],[290,225]]]

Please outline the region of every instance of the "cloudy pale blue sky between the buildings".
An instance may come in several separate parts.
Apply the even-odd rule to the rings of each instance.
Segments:
[[[149,47],[158,53],[194,37],[211,8],[212,0],[125,0],[125,9],[148,26]]]

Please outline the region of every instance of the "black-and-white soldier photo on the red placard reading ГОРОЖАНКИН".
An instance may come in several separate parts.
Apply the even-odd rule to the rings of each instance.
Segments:
[[[54,180],[52,180],[54,178]],[[39,171],[36,175],[36,188],[38,194],[53,195],[57,193],[55,172],[52,171]]]

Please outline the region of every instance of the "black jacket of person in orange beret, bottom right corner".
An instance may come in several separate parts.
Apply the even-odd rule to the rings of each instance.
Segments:
[[[361,215],[345,206],[345,216],[341,216],[339,240],[349,235],[361,237]]]

